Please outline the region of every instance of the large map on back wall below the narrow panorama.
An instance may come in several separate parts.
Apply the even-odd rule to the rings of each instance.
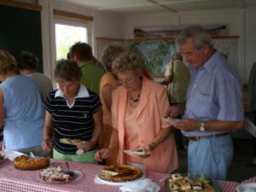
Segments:
[[[172,54],[177,50],[175,39],[145,39],[145,40],[127,40],[119,41],[113,39],[96,38],[97,40],[97,58],[102,55],[102,49],[108,44],[121,44],[126,49],[141,55],[145,67],[154,79],[163,78],[166,71],[166,65],[171,61]],[[229,61],[230,65],[236,68],[238,66],[238,42],[239,38],[213,38],[212,43],[215,49]]]

